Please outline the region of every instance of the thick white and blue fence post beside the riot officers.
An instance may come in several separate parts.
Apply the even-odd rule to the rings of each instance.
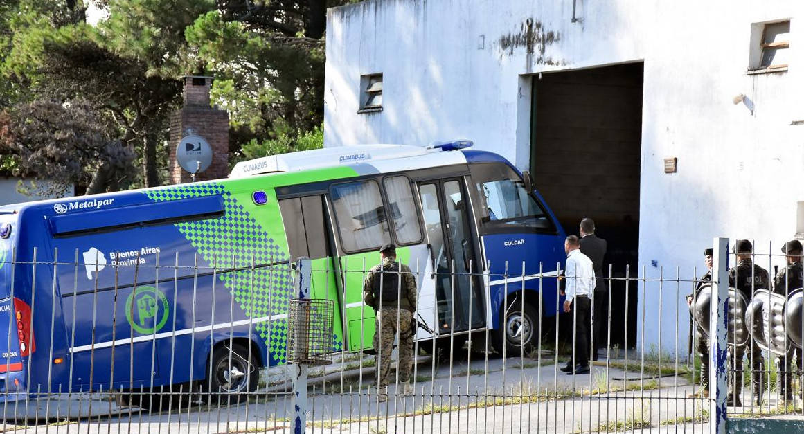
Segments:
[[[709,310],[709,432],[726,432],[726,357],[728,332],[728,238],[715,238],[712,268],[715,270],[711,309]]]

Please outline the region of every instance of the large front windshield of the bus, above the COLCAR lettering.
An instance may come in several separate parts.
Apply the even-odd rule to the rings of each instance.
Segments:
[[[476,212],[484,230],[556,230],[544,207],[525,190],[522,178],[511,167],[482,163],[470,166],[470,172],[480,199]]]

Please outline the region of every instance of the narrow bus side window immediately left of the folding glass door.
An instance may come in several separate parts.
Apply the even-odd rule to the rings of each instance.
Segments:
[[[404,176],[391,176],[384,180],[388,207],[396,232],[396,240],[401,245],[421,242],[421,227],[413,200],[410,181]]]

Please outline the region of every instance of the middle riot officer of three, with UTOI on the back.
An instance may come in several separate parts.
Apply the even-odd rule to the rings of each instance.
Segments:
[[[769,289],[770,279],[765,268],[753,264],[751,256],[753,245],[749,240],[737,240],[732,248],[736,253],[737,266],[728,270],[728,286],[736,289],[745,296],[745,300],[751,297],[757,289]],[[744,345],[729,345],[728,352],[731,354],[732,373],[729,374],[728,406],[741,407],[740,389],[743,384],[743,356],[746,348],[749,349],[749,360],[751,362],[752,385],[754,399],[757,404],[762,399],[762,350],[756,342],[750,341]]]

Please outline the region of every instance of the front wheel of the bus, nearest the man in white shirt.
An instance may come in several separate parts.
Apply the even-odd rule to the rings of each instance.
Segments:
[[[527,303],[525,303],[525,309],[522,309],[522,305],[515,302],[507,311],[508,314],[503,318],[497,330],[491,334],[491,346],[499,354],[503,354],[504,348],[507,356],[519,357],[520,352],[524,351],[527,354],[535,346],[538,338],[536,334],[539,328],[539,316],[536,309]]]

